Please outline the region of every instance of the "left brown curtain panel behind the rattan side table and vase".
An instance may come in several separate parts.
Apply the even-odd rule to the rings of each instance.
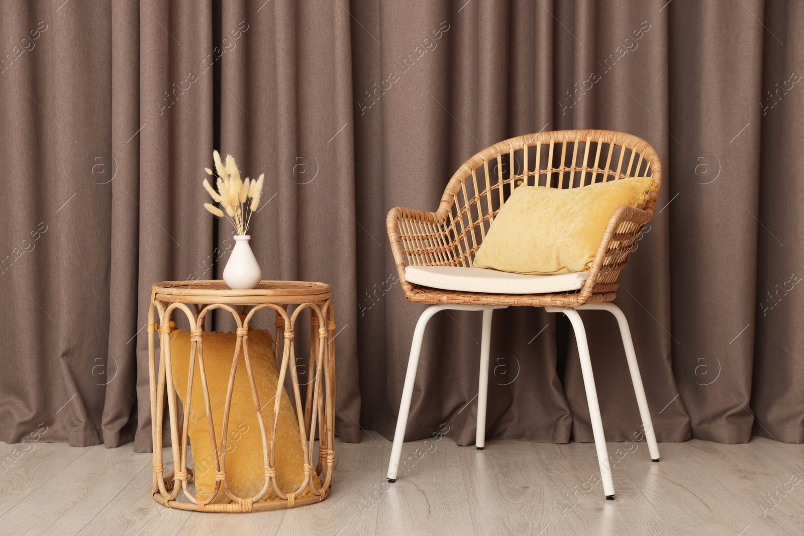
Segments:
[[[359,440],[348,11],[62,2],[4,5],[0,439],[45,423],[43,440],[150,450],[150,286],[223,271],[231,229],[199,210],[218,148],[266,174],[266,278],[333,284],[336,427]]]

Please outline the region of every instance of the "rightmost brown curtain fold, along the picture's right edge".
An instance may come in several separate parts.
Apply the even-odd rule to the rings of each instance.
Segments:
[[[804,24],[804,10],[794,2],[766,2],[762,18],[768,29],[761,35],[761,105],[755,123],[761,135],[761,180],[755,202],[761,225],[757,226],[757,285],[753,289],[758,305],[750,407],[757,415],[753,433],[802,443],[804,392],[796,386],[802,380],[804,348],[804,333],[798,327],[804,308],[797,292],[804,278],[800,254],[804,215],[798,203],[804,184],[786,178],[802,166],[804,96],[798,90],[804,89],[804,39],[798,29]]]

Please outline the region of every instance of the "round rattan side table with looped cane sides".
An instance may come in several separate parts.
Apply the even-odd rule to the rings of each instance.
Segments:
[[[293,313],[288,313],[288,305],[296,305]],[[293,493],[282,493],[277,485],[274,447],[276,444],[276,422],[264,423],[260,412],[260,400],[257,395],[254,379],[249,374],[249,383],[254,399],[256,418],[260,423],[262,447],[269,464],[265,467],[265,485],[255,497],[236,497],[226,485],[225,458],[218,456],[226,452],[228,436],[229,409],[232,396],[232,384],[236,374],[237,360],[232,362],[232,374],[229,378],[228,399],[224,409],[224,422],[216,423],[220,435],[215,436],[211,419],[211,404],[207,395],[207,378],[203,373],[202,332],[204,319],[213,309],[224,309],[232,313],[237,324],[236,352],[240,346],[244,348],[247,370],[251,368],[248,358],[248,325],[254,313],[260,309],[273,309],[276,312],[276,336],[273,350],[277,356],[279,382],[277,384],[277,409],[281,389],[284,389],[286,374],[290,374],[293,384],[291,399],[296,400],[297,419],[304,440],[301,442],[306,465],[306,479]],[[197,362],[201,372],[201,381],[206,403],[207,421],[210,426],[211,451],[215,467],[215,495],[227,493],[232,498],[228,504],[204,504],[190,491],[193,483],[193,470],[187,468],[187,418],[179,422],[178,395],[174,389],[172,367],[170,366],[170,318],[175,309],[181,309],[187,316],[191,329],[191,371]],[[314,372],[314,379],[308,383],[303,413],[301,408],[301,392],[296,372],[296,357],[293,345],[293,325],[305,309],[310,309],[310,362],[309,370]],[[158,313],[157,329],[155,321]],[[326,327],[325,327],[326,326]],[[157,362],[154,350],[154,333],[159,332],[160,356]],[[329,284],[310,283],[304,281],[261,281],[252,290],[232,290],[222,280],[197,281],[163,281],[154,284],[151,289],[151,302],[148,313],[148,369],[150,374],[150,398],[152,415],[152,433],[154,441],[154,482],[151,494],[154,499],[170,508],[197,510],[203,512],[250,512],[266,509],[291,508],[323,501],[330,493],[332,483],[332,467],[334,463],[334,395],[335,395],[335,349],[334,349],[334,308],[332,292]],[[282,339],[282,354],[279,359],[279,340]],[[245,374],[245,371],[240,371]],[[187,392],[192,391],[193,374],[187,380]],[[173,469],[164,475],[162,464],[162,417],[164,414],[165,388],[167,388],[167,405],[170,415],[170,440],[173,451]],[[184,415],[187,415],[187,411]],[[318,432],[318,433],[316,433]],[[318,436],[318,463],[313,463],[314,441]],[[312,468],[321,480],[321,488],[315,489],[311,476]],[[312,497],[296,497],[309,485]],[[260,501],[267,497],[272,489],[279,497],[276,500]],[[178,493],[183,491],[186,500],[179,500]],[[215,495],[210,498],[211,501]],[[208,501],[207,501],[208,502]]]

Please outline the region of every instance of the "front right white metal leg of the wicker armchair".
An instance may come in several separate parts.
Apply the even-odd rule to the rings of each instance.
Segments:
[[[572,322],[572,329],[575,331],[575,338],[578,342],[580,370],[584,375],[586,401],[589,403],[589,419],[592,420],[592,432],[595,438],[595,448],[597,449],[597,462],[601,468],[603,493],[605,498],[613,500],[614,482],[612,481],[611,468],[609,467],[609,451],[605,446],[601,408],[597,403],[597,389],[595,388],[595,378],[592,373],[592,360],[589,358],[589,344],[586,342],[584,322],[580,320],[580,314],[572,308],[546,307],[545,310],[551,313],[564,313],[569,318],[569,321]]]

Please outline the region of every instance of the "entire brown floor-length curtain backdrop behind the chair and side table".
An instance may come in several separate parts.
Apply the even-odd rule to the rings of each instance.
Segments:
[[[621,275],[658,439],[804,442],[798,2],[6,2],[0,23],[0,439],[150,450],[150,285],[219,277],[212,149],[266,173],[271,279],[333,284],[336,430],[392,438],[423,307],[395,206],[539,130],[634,133],[658,211]],[[229,245],[228,245],[229,244]],[[804,294],[802,294],[804,296]],[[609,440],[639,427],[613,318],[583,313]],[[226,328],[224,318],[216,320]],[[474,441],[480,315],[440,313],[408,439]],[[494,314],[487,436],[592,440],[572,329]]]

